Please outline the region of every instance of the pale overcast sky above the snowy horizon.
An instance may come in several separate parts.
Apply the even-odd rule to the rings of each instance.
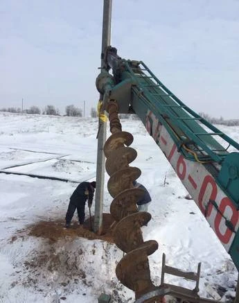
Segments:
[[[239,119],[239,0],[112,0],[112,46],[196,112]],[[1,0],[0,108],[96,107],[103,0]]]

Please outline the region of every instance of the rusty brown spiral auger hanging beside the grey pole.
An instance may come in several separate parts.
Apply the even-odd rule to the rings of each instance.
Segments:
[[[122,131],[116,101],[107,103],[107,112],[112,135],[105,142],[104,153],[107,158],[105,168],[110,176],[107,187],[114,198],[110,206],[116,223],[114,242],[126,253],[116,266],[116,276],[123,285],[135,292],[137,299],[155,289],[150,279],[148,255],[158,249],[158,243],[154,240],[143,241],[141,227],[149,222],[151,215],[145,211],[139,212],[136,206],[144,190],[133,185],[141,170],[129,166],[137,155],[136,150],[129,147],[134,138],[129,132]],[[147,302],[155,302],[155,298]]]

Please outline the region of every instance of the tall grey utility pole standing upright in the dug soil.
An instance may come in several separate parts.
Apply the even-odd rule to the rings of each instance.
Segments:
[[[105,49],[110,45],[112,19],[112,0],[104,0],[103,8],[103,30],[102,30],[102,49],[101,49],[101,72],[105,68],[103,60]],[[100,100],[103,101],[103,95],[100,94]],[[99,113],[100,114],[100,113]],[[101,110],[104,114],[104,110]],[[96,166],[96,203],[94,216],[94,232],[101,234],[103,230],[103,198],[105,184],[105,155],[103,147],[106,137],[106,122],[99,119],[98,123],[98,150],[97,150],[97,166]]]

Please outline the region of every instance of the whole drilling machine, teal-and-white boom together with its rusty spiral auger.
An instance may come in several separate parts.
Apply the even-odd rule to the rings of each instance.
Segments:
[[[125,60],[112,46],[107,47],[102,59],[105,69],[96,79],[96,87],[104,96],[102,106],[109,114],[112,132],[104,146],[105,166],[110,176],[108,189],[114,198],[110,210],[116,221],[115,243],[125,252],[116,267],[116,275],[135,292],[136,302],[157,302],[157,298],[168,293],[188,302],[214,302],[197,295],[200,268],[197,274],[187,275],[197,282],[193,292],[177,286],[161,288],[152,284],[148,255],[157,250],[158,245],[154,240],[144,242],[139,230],[151,216],[136,210],[136,200],[143,193],[134,189],[132,182],[141,172],[129,166],[136,153],[129,147],[132,135],[122,131],[118,113],[134,113],[141,119],[237,269],[239,144],[179,100],[144,62]],[[232,152],[229,152],[230,146]],[[184,276],[165,264],[164,268]]]

